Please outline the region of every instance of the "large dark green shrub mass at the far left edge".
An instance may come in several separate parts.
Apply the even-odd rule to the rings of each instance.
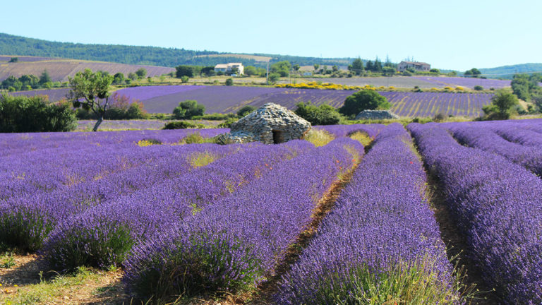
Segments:
[[[49,104],[47,97],[0,95],[0,132],[72,131],[76,116],[66,103]]]

